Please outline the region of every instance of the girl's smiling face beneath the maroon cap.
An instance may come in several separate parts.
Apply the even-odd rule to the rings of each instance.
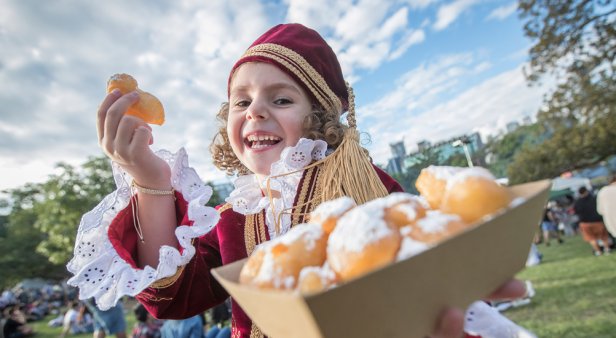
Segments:
[[[282,150],[303,136],[311,109],[304,89],[278,67],[241,65],[229,91],[227,135],[233,152],[253,173],[269,175]]]

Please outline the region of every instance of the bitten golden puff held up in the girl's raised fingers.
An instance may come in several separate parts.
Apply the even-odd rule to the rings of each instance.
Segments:
[[[137,87],[137,80],[128,74],[115,74],[107,81],[107,93],[114,89],[120,90],[122,94],[132,91],[139,93],[139,102],[132,105],[126,114],[136,116],[146,123],[162,125],[165,122],[165,110],[162,103],[156,96],[144,92]]]

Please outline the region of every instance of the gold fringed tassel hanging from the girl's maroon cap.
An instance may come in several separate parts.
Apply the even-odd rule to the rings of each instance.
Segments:
[[[355,122],[355,95],[347,83],[349,109],[345,131],[338,148],[327,156],[321,168],[321,202],[349,196],[357,204],[363,204],[388,195],[387,189],[374,170],[370,157],[359,143]]]

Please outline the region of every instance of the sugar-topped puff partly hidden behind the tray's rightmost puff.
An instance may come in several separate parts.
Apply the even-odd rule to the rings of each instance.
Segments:
[[[463,168],[431,165],[421,170],[415,187],[432,209],[439,209],[445,195],[447,181],[461,170]]]

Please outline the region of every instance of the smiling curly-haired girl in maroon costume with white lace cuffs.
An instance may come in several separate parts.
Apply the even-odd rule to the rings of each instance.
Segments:
[[[80,298],[108,308],[131,295],[157,318],[190,317],[229,297],[210,269],[247,257],[321,201],[348,195],[364,203],[402,190],[359,146],[352,90],[314,30],[285,24],[259,37],[233,66],[228,99],[211,150],[217,167],[240,176],[217,210],[205,206],[211,189],[185,152],[154,154],[151,129],[124,115],[137,95],[104,99],[99,142],[118,190],[80,224],[68,264]],[[517,296],[520,284],[500,294]],[[233,337],[262,336],[235,303],[232,312]],[[460,334],[461,312],[446,312],[439,330]]]

